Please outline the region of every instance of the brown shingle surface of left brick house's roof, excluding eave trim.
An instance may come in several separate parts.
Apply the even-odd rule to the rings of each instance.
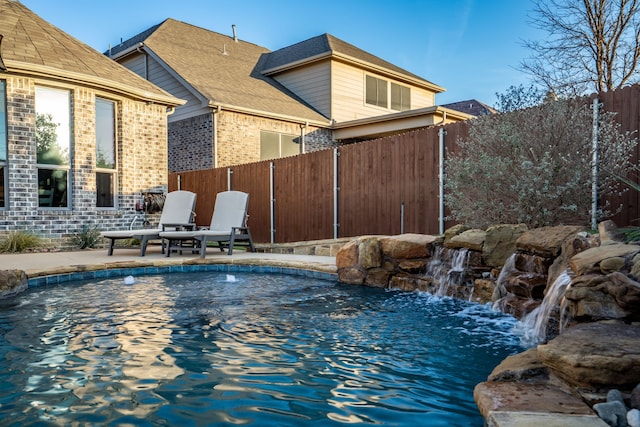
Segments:
[[[104,79],[166,99],[170,95],[33,13],[17,0],[0,0],[0,55],[64,73]],[[8,68],[9,65],[7,65]],[[19,64],[18,64],[19,67]],[[11,70],[9,70],[11,71]]]

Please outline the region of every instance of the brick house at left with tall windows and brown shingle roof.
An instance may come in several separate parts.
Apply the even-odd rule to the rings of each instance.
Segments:
[[[184,101],[18,1],[0,0],[0,39],[0,234],[129,226],[142,193],[166,191]]]

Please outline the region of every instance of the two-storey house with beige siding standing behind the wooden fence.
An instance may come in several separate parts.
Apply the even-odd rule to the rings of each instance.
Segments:
[[[444,89],[332,35],[269,51],[174,19],[106,54],[187,100],[169,116],[169,170],[267,160],[472,116]]]

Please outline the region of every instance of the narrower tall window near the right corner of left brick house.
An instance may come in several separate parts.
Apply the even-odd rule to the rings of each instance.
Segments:
[[[96,206],[115,206],[115,103],[96,98]]]

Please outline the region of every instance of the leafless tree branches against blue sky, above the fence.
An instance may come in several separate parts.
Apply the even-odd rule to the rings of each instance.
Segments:
[[[562,96],[610,91],[640,81],[640,0],[533,0],[520,69]]]

